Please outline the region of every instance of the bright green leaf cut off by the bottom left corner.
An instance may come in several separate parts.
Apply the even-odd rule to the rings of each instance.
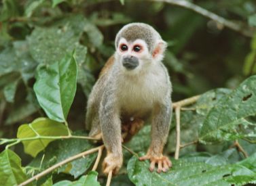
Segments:
[[[10,149],[5,149],[0,154],[0,177],[0,185],[18,185],[26,181],[20,157]]]

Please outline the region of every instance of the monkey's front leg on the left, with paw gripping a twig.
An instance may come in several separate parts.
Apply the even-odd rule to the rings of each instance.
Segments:
[[[103,142],[107,149],[107,157],[103,161],[103,172],[108,174],[113,171],[117,174],[123,163],[121,121],[115,97],[111,92],[106,92],[100,104],[100,127],[103,133]]]

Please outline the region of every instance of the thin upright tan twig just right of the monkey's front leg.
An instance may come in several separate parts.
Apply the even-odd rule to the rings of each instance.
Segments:
[[[175,149],[175,160],[179,159],[179,149],[181,146],[181,107],[175,108],[176,114],[176,149]]]

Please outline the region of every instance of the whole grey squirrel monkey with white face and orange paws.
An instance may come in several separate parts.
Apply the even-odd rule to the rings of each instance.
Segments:
[[[140,160],[150,160],[166,172],[170,160],[162,155],[172,114],[172,91],[162,64],[166,42],[148,24],[131,23],[115,37],[115,53],[100,72],[88,99],[86,126],[90,136],[102,137],[107,148],[103,172],[114,174],[122,166],[122,129],[136,133],[151,118],[151,145]],[[129,128],[129,127],[128,127]]]

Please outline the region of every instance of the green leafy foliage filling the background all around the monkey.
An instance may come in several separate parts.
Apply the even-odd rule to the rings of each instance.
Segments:
[[[253,0],[191,2],[255,32]],[[123,149],[124,166],[111,185],[256,184],[255,33],[245,37],[160,1],[3,0],[0,12],[0,185],[18,185],[101,144],[77,130],[85,128],[86,100],[115,51],[115,34],[129,22],[151,24],[168,43],[172,99],[200,98],[181,110],[181,145],[194,144],[181,148],[179,160],[172,159],[173,113],[164,149],[171,170],[149,172],[148,161]],[[124,145],[141,156],[150,133],[148,121]],[[105,185],[100,165],[92,171],[96,156],[73,160],[31,185]]]

